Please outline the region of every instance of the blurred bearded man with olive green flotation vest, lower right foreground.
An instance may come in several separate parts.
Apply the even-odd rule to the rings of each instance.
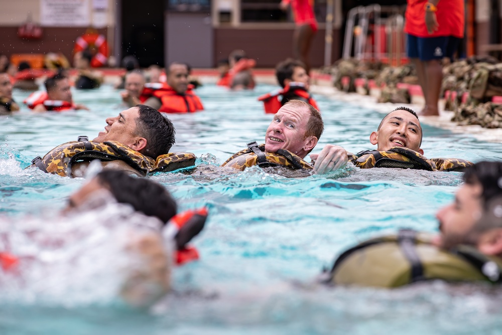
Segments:
[[[402,230],[342,253],[320,278],[334,285],[398,287],[418,281],[502,283],[502,162],[466,169],[454,203],[440,209],[440,234]]]

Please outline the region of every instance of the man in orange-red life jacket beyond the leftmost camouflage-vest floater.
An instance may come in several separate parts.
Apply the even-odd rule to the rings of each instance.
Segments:
[[[147,83],[143,94],[149,98],[145,104],[163,113],[192,113],[203,110],[200,98],[188,84],[188,67],[183,63],[171,63],[167,68],[167,83]]]

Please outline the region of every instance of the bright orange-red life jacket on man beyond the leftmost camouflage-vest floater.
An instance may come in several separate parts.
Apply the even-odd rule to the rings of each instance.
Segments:
[[[162,102],[159,111],[164,113],[193,113],[197,110],[203,110],[204,106],[200,98],[193,92],[192,87],[193,85],[188,85],[185,94],[180,94],[166,83],[147,83],[142,96],[159,98]]]

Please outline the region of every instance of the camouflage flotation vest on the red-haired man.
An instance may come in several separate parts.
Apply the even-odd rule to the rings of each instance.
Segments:
[[[235,153],[221,164],[221,166],[229,166],[241,171],[254,165],[260,167],[282,166],[292,170],[312,169],[312,165],[292,152],[284,149],[279,149],[275,154],[265,152],[265,144],[258,145],[256,141],[249,142],[247,149]]]

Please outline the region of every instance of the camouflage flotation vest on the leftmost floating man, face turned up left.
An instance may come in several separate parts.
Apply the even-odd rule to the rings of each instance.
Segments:
[[[37,166],[44,172],[67,177],[71,176],[72,166],[75,163],[93,159],[105,162],[121,160],[146,175],[195,166],[196,157],[192,153],[170,153],[161,155],[155,160],[116,141],[97,143],[88,141],[87,136],[79,136],[78,141],[61,144],[43,158],[36,157],[32,160],[31,167]]]

